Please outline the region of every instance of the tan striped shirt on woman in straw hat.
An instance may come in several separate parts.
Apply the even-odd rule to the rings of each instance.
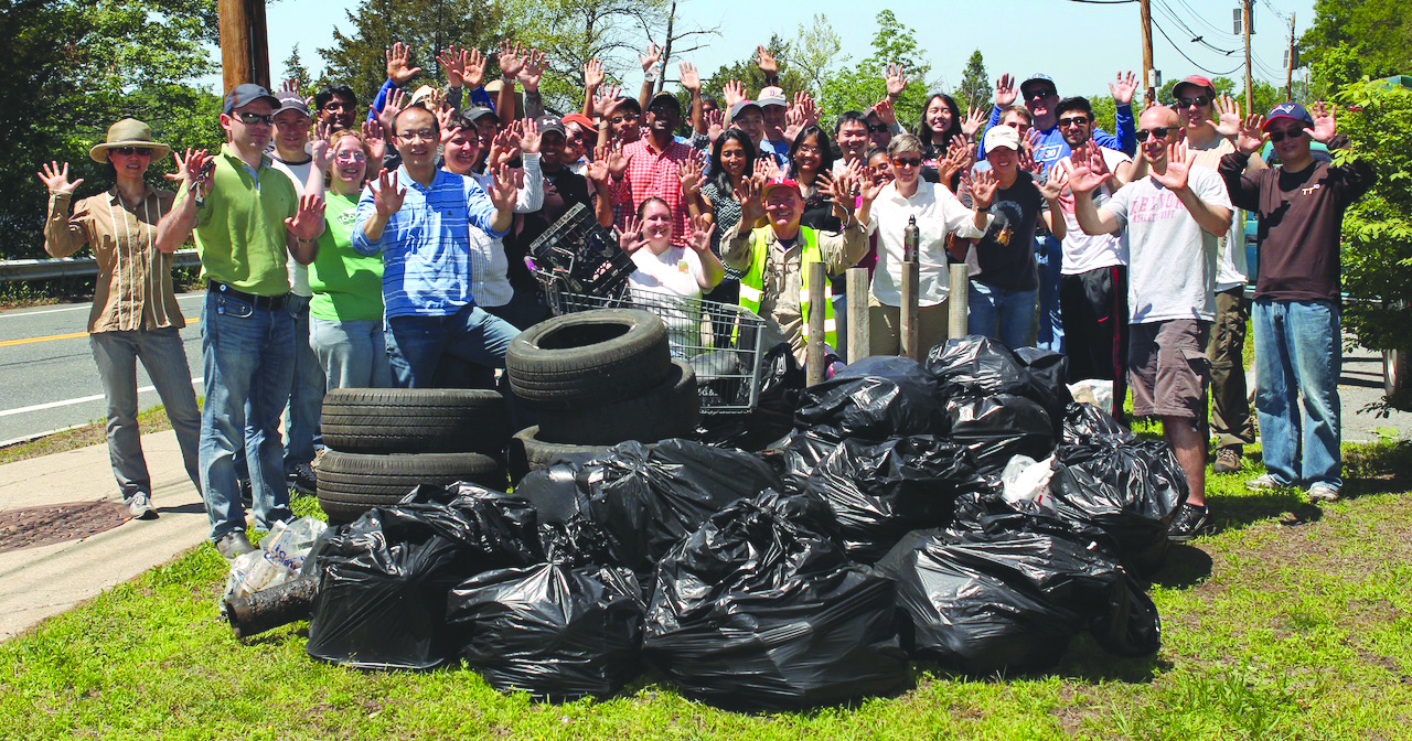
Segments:
[[[72,193],[49,193],[44,250],[68,257],[88,244],[97,260],[89,332],[184,327],[172,292],[172,255],[157,250],[157,222],[176,193],[147,186],[128,207],[117,188],[85,198],[69,216]]]

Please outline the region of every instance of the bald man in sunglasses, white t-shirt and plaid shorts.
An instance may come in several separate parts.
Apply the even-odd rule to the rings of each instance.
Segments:
[[[1206,528],[1206,418],[1210,361],[1206,340],[1216,320],[1216,257],[1231,224],[1226,185],[1214,169],[1192,165],[1176,112],[1152,107],[1138,119],[1132,181],[1103,207],[1093,191],[1107,178],[1103,154],[1073,154],[1069,186],[1087,234],[1128,230],[1128,380],[1132,414],[1159,416],[1190,495],[1169,536],[1185,542]]]

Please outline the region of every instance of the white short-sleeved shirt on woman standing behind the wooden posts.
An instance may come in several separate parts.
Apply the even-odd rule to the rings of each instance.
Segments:
[[[897,183],[882,186],[868,213],[868,234],[878,236],[878,264],[873,270],[873,298],[887,306],[902,305],[902,236],[909,216],[916,216],[916,261],[921,268],[918,305],[935,306],[952,292],[952,278],[946,267],[946,234],[980,239],[986,230],[976,229],[976,212],[967,209],[949,189],[918,179],[912,198],[902,198]],[[986,216],[986,226],[994,220]]]

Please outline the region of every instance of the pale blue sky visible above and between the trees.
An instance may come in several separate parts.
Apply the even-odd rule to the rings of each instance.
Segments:
[[[345,10],[356,0],[282,0],[267,8],[270,24],[271,73],[278,78],[289,49],[299,44],[301,56],[311,72],[323,68],[319,47],[328,47],[333,27],[347,31]],[[679,21],[688,27],[720,27],[720,38],[709,48],[690,55],[690,61],[709,75],[723,64],[750,55],[771,34],[792,38],[801,23],[812,14],[827,16],[843,38],[843,52],[854,62],[871,54],[870,42],[877,30],[878,10],[891,8],[898,20],[918,34],[932,71],[929,82],[955,88],[973,49],[980,49],[994,79],[1004,71],[1028,75],[1045,71],[1059,92],[1091,95],[1107,90],[1107,82],[1121,69],[1141,71],[1142,45],[1138,4],[1086,4],[1069,0],[931,0],[857,3],[816,0],[813,3],[778,1],[772,6],[685,0],[678,4]],[[1243,41],[1233,34],[1231,10],[1236,0],[1152,0],[1155,23],[1196,62],[1213,72],[1238,78],[1243,71]],[[750,8],[743,13],[741,8]],[[1271,10],[1278,10],[1281,20]],[[1296,32],[1313,21],[1313,0],[1255,0],[1257,56],[1255,76],[1284,86],[1284,49],[1288,44],[1288,17],[1296,14]],[[1224,55],[1199,42],[1200,34],[1219,49],[1237,49]],[[1166,85],[1200,72],[1183,59],[1176,48],[1154,31],[1155,66]],[[1231,72],[1234,69],[1234,72]],[[640,72],[627,72],[637,83]]]

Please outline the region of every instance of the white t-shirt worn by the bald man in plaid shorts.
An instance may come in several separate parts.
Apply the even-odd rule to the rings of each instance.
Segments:
[[[1187,188],[1204,203],[1231,207],[1214,169],[1192,165]],[[1113,193],[1103,210],[1128,231],[1128,323],[1216,319],[1219,239],[1152,176]]]

